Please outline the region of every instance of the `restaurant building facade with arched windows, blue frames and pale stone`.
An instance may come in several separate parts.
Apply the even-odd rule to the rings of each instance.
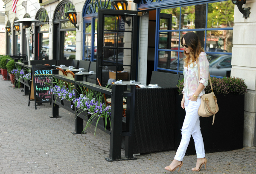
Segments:
[[[244,145],[256,145],[256,0],[247,0],[244,5],[251,8],[247,19],[231,0],[128,0],[126,14],[110,12],[110,0],[43,0],[40,4],[20,0],[16,14],[12,0],[3,1],[5,25],[12,26],[11,34],[5,34],[6,54],[27,54],[28,50],[25,28],[20,25],[18,33],[13,22],[26,17],[37,19],[41,22],[32,25],[29,38],[30,59],[97,62],[97,76],[105,83],[117,71],[124,72],[122,78],[144,85],[149,84],[154,70],[183,73],[180,39],[187,32],[197,33],[211,59],[212,76],[245,79]],[[64,14],[70,9],[77,12],[79,28]]]

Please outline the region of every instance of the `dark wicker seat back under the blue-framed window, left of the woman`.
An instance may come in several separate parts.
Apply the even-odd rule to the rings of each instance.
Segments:
[[[150,84],[158,84],[160,87],[176,87],[178,84],[179,76],[179,74],[153,71]]]

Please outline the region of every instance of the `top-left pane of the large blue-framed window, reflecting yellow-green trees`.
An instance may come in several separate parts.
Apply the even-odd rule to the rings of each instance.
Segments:
[[[160,10],[159,30],[177,30],[180,25],[180,7]]]

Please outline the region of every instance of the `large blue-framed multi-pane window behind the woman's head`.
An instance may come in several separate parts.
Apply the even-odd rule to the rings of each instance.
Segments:
[[[231,70],[234,4],[228,1],[160,9],[157,71],[183,73],[184,49],[180,39],[195,32],[207,53],[209,72],[222,78]]]

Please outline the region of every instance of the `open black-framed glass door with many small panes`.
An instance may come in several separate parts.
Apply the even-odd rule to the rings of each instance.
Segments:
[[[137,11],[99,9],[97,77],[102,84],[136,78]]]

